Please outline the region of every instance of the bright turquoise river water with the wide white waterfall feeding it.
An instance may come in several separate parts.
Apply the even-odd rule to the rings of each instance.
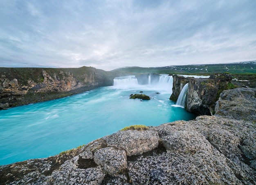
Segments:
[[[53,156],[129,125],[194,119],[195,114],[172,106],[172,84],[168,75],[148,85],[129,76],[116,78],[111,87],[1,110],[0,165]],[[140,91],[151,100],[130,99]]]

